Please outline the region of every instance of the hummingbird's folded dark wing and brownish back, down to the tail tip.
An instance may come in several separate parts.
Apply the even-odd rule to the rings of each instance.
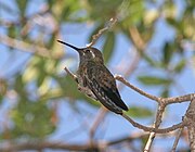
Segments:
[[[86,72],[89,88],[104,106],[118,114],[121,114],[122,110],[128,111],[120,98],[114,76],[104,65],[89,66]]]

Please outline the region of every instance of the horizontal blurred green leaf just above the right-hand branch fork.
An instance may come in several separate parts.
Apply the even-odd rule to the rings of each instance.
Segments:
[[[171,83],[170,79],[166,79],[162,77],[156,77],[156,76],[139,76],[138,79],[143,85],[147,85],[147,86],[168,85]]]

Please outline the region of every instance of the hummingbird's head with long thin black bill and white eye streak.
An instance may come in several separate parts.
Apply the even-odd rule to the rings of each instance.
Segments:
[[[96,63],[102,63],[102,64],[104,63],[103,55],[101,51],[98,50],[96,48],[92,48],[92,47],[77,48],[64,41],[61,40],[57,41],[76,50],[79,53],[80,62],[94,61]]]

